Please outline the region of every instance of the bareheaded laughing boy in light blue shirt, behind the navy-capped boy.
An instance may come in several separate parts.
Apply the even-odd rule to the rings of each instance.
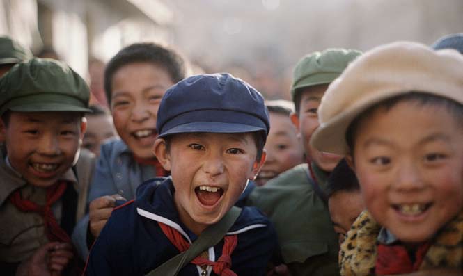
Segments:
[[[72,234],[81,258],[86,259],[116,200],[132,200],[141,182],[166,176],[152,152],[157,110],[166,90],[185,74],[182,56],[154,43],[132,44],[109,60],[104,90],[120,140],[100,148],[88,195],[89,214]]]

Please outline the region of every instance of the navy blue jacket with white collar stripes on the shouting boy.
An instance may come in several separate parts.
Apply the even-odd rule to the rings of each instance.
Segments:
[[[145,275],[179,254],[158,221],[174,227],[188,241],[195,241],[197,236],[178,218],[174,191],[170,177],[141,184],[136,200],[111,214],[91,249],[84,275]],[[227,234],[237,234],[238,238],[231,269],[240,276],[265,275],[267,263],[278,248],[269,220],[258,209],[244,207]],[[212,261],[219,259],[222,247],[223,240],[208,250]],[[214,275],[211,268],[208,272]],[[201,275],[201,268],[189,263],[178,275]]]

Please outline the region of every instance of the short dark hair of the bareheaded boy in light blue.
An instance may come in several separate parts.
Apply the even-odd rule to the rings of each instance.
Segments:
[[[131,44],[113,56],[104,70],[104,92],[109,104],[111,104],[113,75],[120,67],[130,63],[152,63],[162,67],[171,76],[173,83],[178,83],[187,74],[185,60],[173,49],[155,43]]]

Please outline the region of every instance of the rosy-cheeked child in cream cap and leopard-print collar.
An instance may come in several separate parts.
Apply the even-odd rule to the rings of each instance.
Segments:
[[[348,155],[367,209],[341,245],[342,275],[461,275],[462,69],[457,51],[395,42],[324,95],[311,143]]]

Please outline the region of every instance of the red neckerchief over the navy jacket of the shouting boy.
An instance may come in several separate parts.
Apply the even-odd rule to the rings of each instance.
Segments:
[[[162,232],[167,236],[168,240],[180,251],[184,252],[189,248],[189,243],[185,241],[182,234],[172,227],[165,225],[162,222],[157,222],[162,229]],[[212,266],[214,273],[220,276],[237,276],[231,268],[231,254],[238,243],[236,235],[225,236],[225,243],[223,244],[222,255],[217,261],[210,261],[201,256],[198,256],[191,261],[196,266]]]

